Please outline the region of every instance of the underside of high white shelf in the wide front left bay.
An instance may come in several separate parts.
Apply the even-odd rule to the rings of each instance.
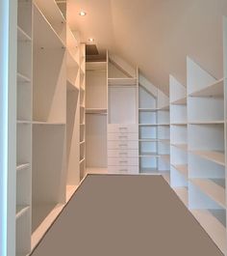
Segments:
[[[51,2],[51,1],[50,1]],[[40,12],[38,6],[34,5],[34,42],[38,48],[65,48],[62,39],[54,28]],[[43,35],[45,35],[43,37]]]

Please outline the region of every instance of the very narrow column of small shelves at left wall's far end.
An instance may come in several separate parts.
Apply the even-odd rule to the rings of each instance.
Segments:
[[[86,172],[86,44],[81,43],[81,81],[80,81],[80,178]]]

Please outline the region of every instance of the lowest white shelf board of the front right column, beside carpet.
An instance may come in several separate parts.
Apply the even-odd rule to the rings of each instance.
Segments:
[[[218,248],[226,252],[226,229],[212,213],[207,210],[191,210],[193,216],[197,219],[200,225],[206,230],[208,235],[216,243]]]

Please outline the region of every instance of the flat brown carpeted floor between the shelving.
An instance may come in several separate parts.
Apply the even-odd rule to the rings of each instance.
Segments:
[[[161,176],[88,175],[33,256],[220,256]]]

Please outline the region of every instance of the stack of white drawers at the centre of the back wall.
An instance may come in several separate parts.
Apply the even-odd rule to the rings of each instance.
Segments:
[[[139,173],[138,125],[108,126],[108,172],[112,174]]]

